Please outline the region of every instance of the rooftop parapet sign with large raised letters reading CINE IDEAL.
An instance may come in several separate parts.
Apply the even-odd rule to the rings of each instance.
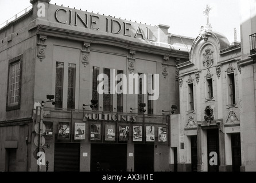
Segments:
[[[111,35],[125,39],[139,39],[140,41],[155,45],[158,41],[159,30],[156,26],[126,21],[87,11],[69,9],[67,7],[51,5],[49,19],[70,29],[83,30],[92,34]]]

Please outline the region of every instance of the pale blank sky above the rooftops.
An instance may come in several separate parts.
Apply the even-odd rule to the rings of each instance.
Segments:
[[[212,30],[224,34],[234,42],[234,28],[237,41],[240,41],[240,2],[241,0],[51,0],[50,3],[75,7],[76,9],[105,14],[132,22],[147,25],[164,24],[170,26],[168,32],[196,38],[200,27],[206,24],[203,14],[210,5]],[[246,0],[245,0],[246,1]],[[18,3],[18,5],[15,5]],[[29,0],[0,0],[0,27],[3,22],[29,7]],[[23,11],[25,13],[25,11]]]

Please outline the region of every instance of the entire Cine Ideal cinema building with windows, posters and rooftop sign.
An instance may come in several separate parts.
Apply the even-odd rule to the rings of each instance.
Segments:
[[[178,118],[162,110],[180,112],[176,65],[188,61],[193,39],[165,25],[30,2],[0,29],[0,171],[46,171],[38,152],[51,172],[173,170]],[[138,93],[98,93],[99,74],[115,88],[117,74],[135,73],[147,74],[131,85]]]

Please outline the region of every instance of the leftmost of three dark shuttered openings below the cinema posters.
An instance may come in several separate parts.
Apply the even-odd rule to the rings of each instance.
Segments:
[[[54,171],[79,172],[80,170],[80,144],[55,143]]]

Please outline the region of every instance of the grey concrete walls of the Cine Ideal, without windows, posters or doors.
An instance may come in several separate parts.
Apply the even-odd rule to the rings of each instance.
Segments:
[[[32,10],[20,18],[10,22],[0,30],[0,70],[1,89],[0,101],[6,106],[0,106],[0,171],[8,170],[8,151],[16,149],[16,171],[37,171],[37,160],[34,158],[34,126],[38,123],[34,104],[46,101],[47,94],[55,94],[56,62],[64,62],[63,109],[55,110],[50,103],[45,104],[42,120],[53,122],[53,138],[46,139],[44,150],[46,161],[49,161],[49,171],[54,170],[55,144],[61,142],[80,144],[80,171],[90,171],[91,141],[90,123],[84,121],[83,104],[90,104],[92,99],[92,67],[123,70],[124,74],[145,73],[159,74],[159,98],[153,101],[153,115],[145,113],[143,118],[137,116],[133,124],[121,121],[119,125],[155,126],[154,171],[169,171],[172,153],[170,140],[170,122],[168,116],[162,116],[162,110],[170,110],[171,105],[179,104],[179,80],[176,63],[188,60],[192,38],[180,37],[168,33],[169,26],[149,26],[129,22],[104,15],[69,9],[51,5],[50,1],[30,1]],[[38,16],[38,7],[45,7],[45,16]],[[183,42],[181,41],[183,39]],[[184,45],[184,42],[186,45]],[[11,61],[20,59],[21,94],[16,109],[10,108],[6,102],[8,68]],[[67,65],[76,65],[75,73],[75,109],[67,110]],[[116,73],[117,74],[117,73]],[[167,86],[167,87],[166,87]],[[148,106],[147,96],[144,102]],[[137,94],[123,95],[123,114],[130,114],[130,108],[137,108]],[[90,109],[90,107],[88,107]],[[87,110],[87,109],[86,109]],[[176,111],[179,113],[180,108]],[[87,111],[92,113],[92,111]],[[103,94],[99,94],[99,112],[103,112]],[[133,113],[136,113],[133,111]],[[113,95],[113,112],[117,114],[117,94]],[[121,113],[118,113],[121,114]],[[174,115],[175,116],[175,115]],[[174,117],[173,116],[173,117]],[[74,141],[75,132],[71,132],[69,141],[56,139],[58,122],[86,123],[86,139]],[[102,128],[108,121],[102,123]],[[113,122],[113,121],[110,121]],[[174,125],[175,120],[172,121]],[[158,142],[158,126],[168,130],[168,140]],[[104,129],[104,128],[103,128]],[[117,131],[118,132],[118,131]],[[130,130],[127,142],[127,170],[134,170],[134,145]],[[104,142],[102,142],[104,144]],[[175,143],[175,142],[174,142]],[[8,144],[14,144],[9,146]],[[145,139],[141,144],[147,144]],[[150,143],[149,143],[150,144]],[[152,143],[151,143],[152,144]],[[87,153],[85,156],[83,153]],[[45,166],[41,167],[45,171]]]

